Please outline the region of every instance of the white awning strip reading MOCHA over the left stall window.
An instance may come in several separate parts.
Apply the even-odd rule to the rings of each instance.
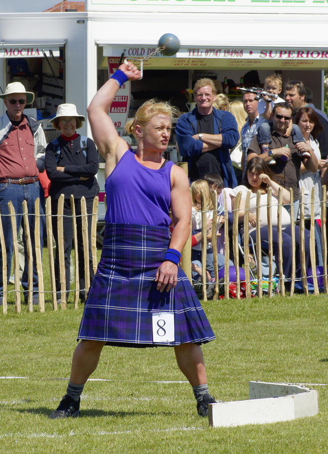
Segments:
[[[59,56],[59,48],[63,47],[66,40],[62,41],[1,41],[0,58],[19,59],[46,56]]]

